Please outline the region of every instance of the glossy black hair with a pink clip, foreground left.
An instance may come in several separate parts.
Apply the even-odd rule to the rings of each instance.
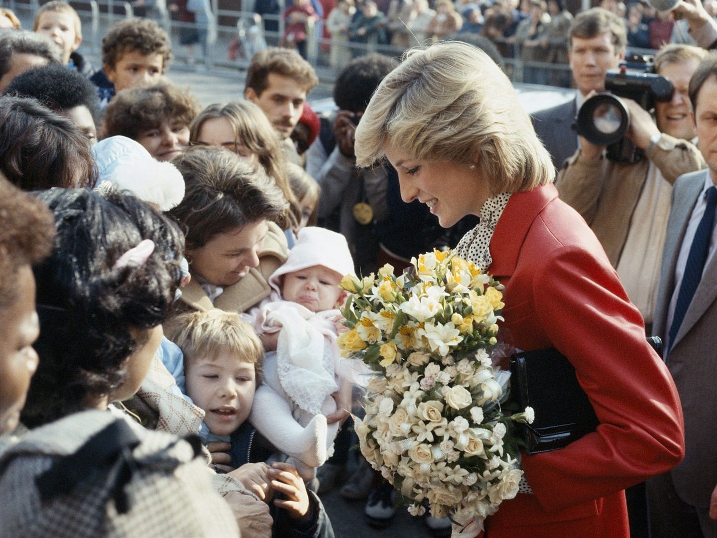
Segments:
[[[34,267],[40,336],[22,423],[34,428],[112,395],[127,377],[127,358],[171,312],[181,279],[179,227],[139,199],[84,189],[38,194],[54,213],[50,258]],[[155,249],[146,263],[115,269],[142,240]]]

